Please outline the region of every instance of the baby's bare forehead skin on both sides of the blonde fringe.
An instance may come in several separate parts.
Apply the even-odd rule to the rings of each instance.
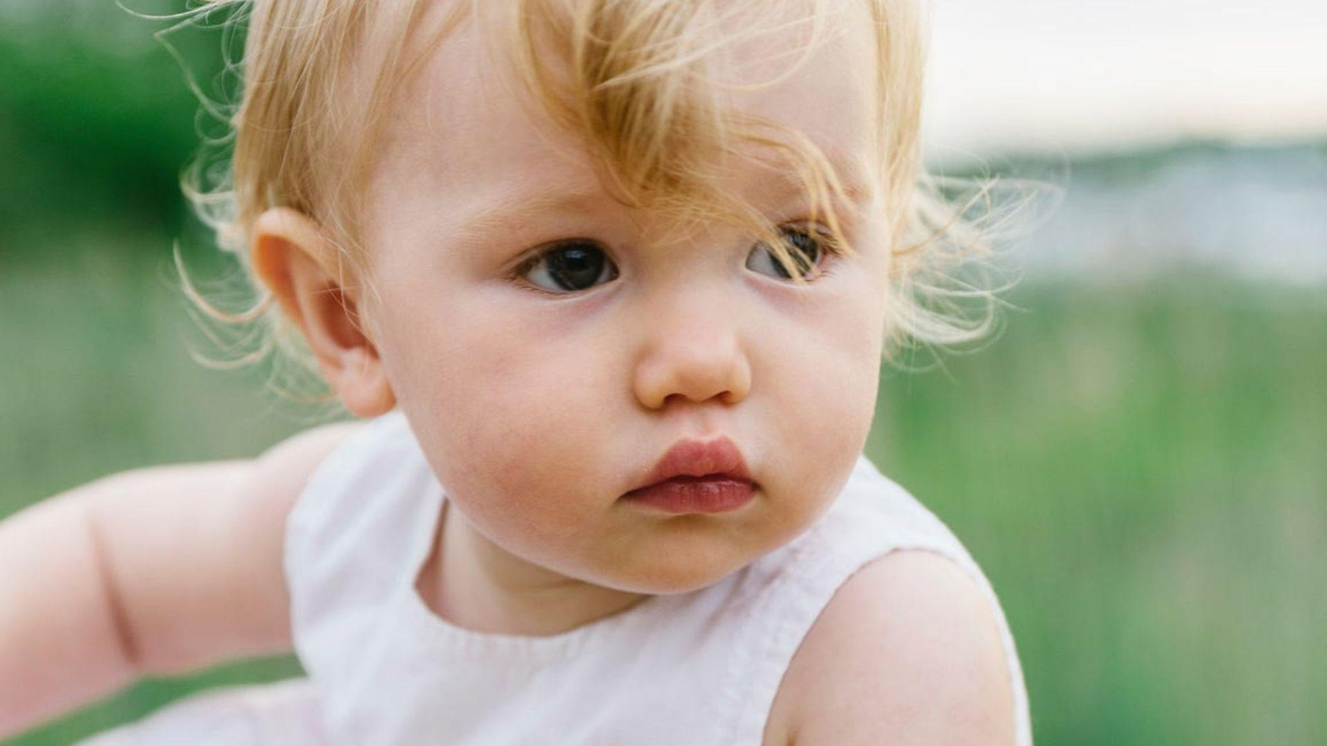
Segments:
[[[430,15],[441,17],[453,1],[435,3]],[[876,38],[869,21],[865,3],[843,4],[827,17],[827,36],[794,74],[767,88],[715,89],[715,94],[723,106],[804,135],[844,167],[847,182],[867,182],[877,161],[878,135]],[[523,89],[515,58],[502,42],[488,25],[464,17],[437,45],[393,102],[374,167],[374,192],[402,206],[433,196],[431,206],[417,208],[462,219],[486,206],[510,203],[512,195],[544,192],[543,202],[548,202],[596,190],[604,171],[591,143],[553,125]],[[798,62],[804,42],[804,29],[738,41],[714,56],[714,77],[738,84],[768,81]],[[553,57],[540,62],[567,66]],[[767,177],[746,169],[740,178]],[[770,181],[770,186],[784,185]]]

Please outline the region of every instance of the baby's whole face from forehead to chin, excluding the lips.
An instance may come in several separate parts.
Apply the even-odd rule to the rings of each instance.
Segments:
[[[874,40],[853,5],[861,17],[795,77],[731,102],[803,131],[873,195]],[[735,228],[665,242],[520,105],[484,44],[472,24],[447,38],[398,101],[373,174],[381,300],[365,313],[393,392],[454,508],[515,561],[645,593],[713,583],[805,530],[861,453],[888,292],[880,200],[840,211],[859,256],[827,258],[803,288]],[[787,60],[774,65],[746,69],[767,78]],[[798,188],[738,163],[776,223],[807,216]],[[472,223],[496,203],[529,212]],[[547,261],[508,277],[559,239],[602,258],[576,275],[584,289]],[[664,515],[621,499],[675,441],[717,434],[746,458],[750,503]]]

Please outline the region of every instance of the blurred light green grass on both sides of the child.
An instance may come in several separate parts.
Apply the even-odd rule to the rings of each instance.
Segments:
[[[130,239],[0,259],[0,516],[117,470],[255,455],[316,415],[194,364],[169,259],[102,246]],[[990,576],[1038,742],[1327,742],[1322,289],[1010,299],[1024,311],[986,349],[882,374],[868,454]],[[146,681],[8,743],[295,674],[285,657]]]

